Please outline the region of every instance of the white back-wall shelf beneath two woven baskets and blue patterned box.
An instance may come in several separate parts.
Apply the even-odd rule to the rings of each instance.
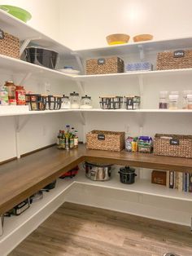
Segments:
[[[192,68],[170,69],[170,70],[154,70],[154,71],[137,71],[129,73],[111,73],[98,75],[81,75],[74,76],[80,82],[94,82],[110,79],[124,79],[129,77],[163,77],[163,76],[180,76],[192,75]]]

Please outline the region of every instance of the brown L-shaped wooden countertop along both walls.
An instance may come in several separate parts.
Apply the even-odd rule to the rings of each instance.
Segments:
[[[82,161],[192,172],[192,159],[160,157],[153,154],[86,150],[85,145],[71,151],[46,148],[0,166],[0,214],[33,195],[61,174]]]

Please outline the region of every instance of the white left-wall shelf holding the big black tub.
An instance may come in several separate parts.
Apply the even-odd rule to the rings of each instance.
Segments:
[[[0,69],[11,75],[33,73],[40,77],[55,78],[55,80],[72,80],[73,77],[61,73],[57,70],[44,68],[36,64],[28,63],[24,60],[14,59],[5,55],[0,55]]]

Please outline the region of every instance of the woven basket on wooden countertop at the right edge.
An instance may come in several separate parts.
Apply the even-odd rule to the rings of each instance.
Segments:
[[[161,139],[170,137],[172,139]],[[192,158],[192,135],[155,135],[154,154]]]

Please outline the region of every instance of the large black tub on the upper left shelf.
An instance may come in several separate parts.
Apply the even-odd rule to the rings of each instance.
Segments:
[[[25,59],[33,64],[55,69],[59,60],[59,53],[46,48],[31,46],[24,50]]]

